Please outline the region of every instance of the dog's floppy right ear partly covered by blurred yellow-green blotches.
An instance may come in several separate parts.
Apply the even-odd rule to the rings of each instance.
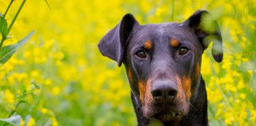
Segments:
[[[206,10],[198,10],[184,21],[183,25],[188,26],[194,31],[203,50],[207,48],[210,42],[213,42],[213,57],[217,62],[222,61],[223,49],[220,27],[209,12]]]

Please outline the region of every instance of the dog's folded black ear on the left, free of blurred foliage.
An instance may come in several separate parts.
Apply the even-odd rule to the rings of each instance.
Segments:
[[[127,13],[123,16],[119,24],[100,40],[98,44],[100,53],[117,61],[121,66],[127,40],[136,24],[138,24],[137,20],[132,14]]]

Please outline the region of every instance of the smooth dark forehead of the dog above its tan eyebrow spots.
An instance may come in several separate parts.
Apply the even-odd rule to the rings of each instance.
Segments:
[[[187,42],[197,42],[197,39],[190,31],[190,28],[178,23],[139,25],[134,29],[130,41],[132,44],[143,44],[146,40],[156,40],[156,42],[159,42],[158,40],[173,38],[186,40]]]

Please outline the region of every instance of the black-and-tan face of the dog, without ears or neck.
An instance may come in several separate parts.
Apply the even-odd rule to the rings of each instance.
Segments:
[[[171,120],[188,112],[203,51],[192,33],[168,23],[140,25],[130,35],[124,65],[145,117]]]

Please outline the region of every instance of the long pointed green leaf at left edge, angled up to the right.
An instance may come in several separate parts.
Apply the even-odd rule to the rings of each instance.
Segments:
[[[15,51],[24,43],[26,43],[34,33],[35,31],[30,32],[24,39],[21,39],[17,44],[2,47],[0,51],[0,64],[5,64],[6,61],[8,61],[9,58],[13,56]]]

